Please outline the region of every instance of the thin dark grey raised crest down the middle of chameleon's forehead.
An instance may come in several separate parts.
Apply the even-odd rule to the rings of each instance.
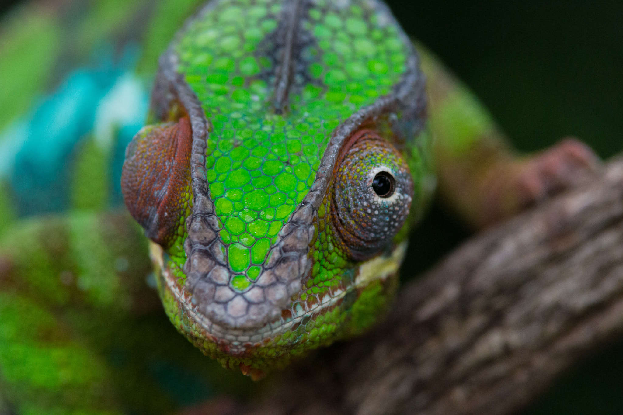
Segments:
[[[283,107],[288,100],[288,91],[290,90],[290,84],[293,78],[292,61],[298,35],[302,2],[303,0],[292,0],[284,4],[283,7],[283,14],[286,16],[282,18],[282,21],[286,24],[287,32],[275,86],[275,114],[283,113]]]

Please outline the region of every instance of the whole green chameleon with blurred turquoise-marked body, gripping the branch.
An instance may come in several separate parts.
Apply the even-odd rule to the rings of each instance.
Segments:
[[[202,353],[260,379],[378,322],[435,188],[483,228],[597,164],[573,139],[513,151],[380,1],[136,1],[123,18],[102,2],[102,22],[54,7],[82,23],[69,60],[109,58],[40,103],[1,100],[27,114],[0,124],[0,408],[15,413],[173,411],[131,397],[111,363],[154,291]],[[11,40],[41,49],[11,62],[41,60],[32,100],[62,54],[19,33],[60,32],[31,12]],[[122,204],[142,232],[103,212]]]

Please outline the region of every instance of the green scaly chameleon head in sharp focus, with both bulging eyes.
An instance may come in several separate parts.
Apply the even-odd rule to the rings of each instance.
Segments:
[[[122,180],[174,325],[255,375],[369,327],[434,185],[388,8],[215,0],[159,63]]]

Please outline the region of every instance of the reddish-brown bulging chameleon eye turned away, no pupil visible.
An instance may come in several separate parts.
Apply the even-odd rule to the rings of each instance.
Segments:
[[[145,235],[163,248],[173,243],[188,208],[193,133],[187,117],[146,126],[125,151],[121,191]]]

